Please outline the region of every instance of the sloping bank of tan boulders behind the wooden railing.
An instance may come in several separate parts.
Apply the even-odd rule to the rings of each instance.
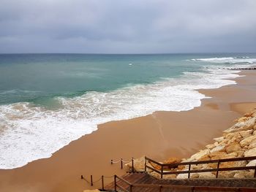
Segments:
[[[224,158],[241,158],[256,156],[256,109],[252,112],[246,113],[243,117],[236,120],[236,124],[227,130],[223,131],[222,137],[214,138],[212,144],[206,145],[206,148],[192,155],[187,159],[170,158],[167,161],[162,162],[163,164],[177,164],[179,162],[190,162],[190,161],[208,161],[218,160]],[[155,169],[160,170],[161,167],[157,164],[147,162],[148,166],[152,166]],[[136,171],[144,171],[145,158],[135,159],[134,166]],[[219,168],[226,167],[238,167],[238,166],[255,166],[256,160],[252,161],[230,161],[222,162],[219,164]],[[132,164],[126,164],[130,169]],[[195,169],[214,169],[217,168],[217,163],[212,164],[197,164],[192,165],[191,170]],[[164,172],[170,171],[185,171],[189,170],[189,166],[177,166],[174,168],[165,167]],[[157,172],[151,172],[150,174],[154,177],[160,177]],[[253,177],[254,170],[236,170],[236,171],[225,171],[219,172],[219,178],[246,178]],[[167,174],[163,175],[164,179],[185,179],[188,174]],[[216,172],[202,172],[192,173],[191,178],[215,178]]]

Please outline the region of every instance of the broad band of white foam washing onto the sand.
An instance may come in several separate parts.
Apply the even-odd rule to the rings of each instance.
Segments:
[[[178,79],[165,79],[150,85],[132,85],[108,93],[89,92],[72,99],[56,98],[58,110],[30,103],[0,106],[0,168],[12,169],[39,158],[48,158],[56,150],[85,134],[97,130],[97,124],[151,114],[154,111],[192,110],[206,98],[195,91],[235,84],[227,78],[234,71],[205,69],[184,72]]]

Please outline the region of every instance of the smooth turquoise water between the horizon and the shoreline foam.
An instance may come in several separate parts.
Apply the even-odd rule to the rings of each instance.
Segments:
[[[146,84],[182,72],[198,72],[208,63],[192,58],[252,54],[11,54],[0,55],[0,104],[31,101],[52,104],[54,96],[79,96],[87,91],[113,91]]]

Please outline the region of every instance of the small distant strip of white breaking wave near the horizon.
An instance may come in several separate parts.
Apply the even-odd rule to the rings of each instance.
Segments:
[[[256,58],[249,57],[228,57],[228,58],[192,58],[192,61],[204,61],[217,64],[236,64],[236,63],[248,63],[252,64],[256,62]]]

